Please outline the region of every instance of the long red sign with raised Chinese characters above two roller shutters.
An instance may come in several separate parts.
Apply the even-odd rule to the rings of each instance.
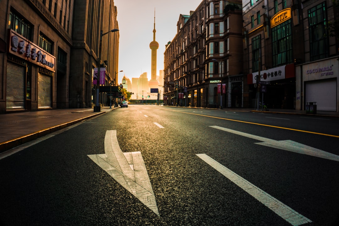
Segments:
[[[55,57],[12,29],[9,29],[8,52],[55,72]]]

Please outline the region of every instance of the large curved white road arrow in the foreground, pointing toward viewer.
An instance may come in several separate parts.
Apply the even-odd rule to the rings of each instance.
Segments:
[[[106,131],[105,154],[87,156],[160,216],[141,152],[123,153],[117,140],[116,130]]]

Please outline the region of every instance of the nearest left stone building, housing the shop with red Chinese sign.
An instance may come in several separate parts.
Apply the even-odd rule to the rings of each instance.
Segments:
[[[0,112],[68,107],[72,0],[0,1]]]

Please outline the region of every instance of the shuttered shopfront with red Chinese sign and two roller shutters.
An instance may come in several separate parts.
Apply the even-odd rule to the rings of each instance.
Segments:
[[[6,111],[52,108],[56,58],[13,30],[8,40]]]

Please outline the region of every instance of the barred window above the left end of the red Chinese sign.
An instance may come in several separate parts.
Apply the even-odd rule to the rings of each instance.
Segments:
[[[8,28],[11,28],[26,39],[32,40],[32,24],[12,10],[9,13]]]

